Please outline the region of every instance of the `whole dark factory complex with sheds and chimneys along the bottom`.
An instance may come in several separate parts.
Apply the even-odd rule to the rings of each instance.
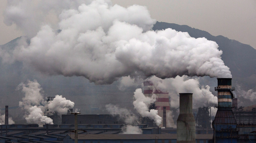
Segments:
[[[197,121],[194,119],[192,93],[180,93],[180,115],[177,119],[177,129],[168,127],[169,123],[173,123],[173,120],[168,119],[167,116],[170,112],[168,93],[154,90],[151,82],[145,82],[145,95],[156,94],[157,96],[157,101],[150,108],[159,109],[159,115],[163,118],[162,126],[166,126],[166,128],[133,123],[142,131],[142,134],[122,134],[126,123],[120,118],[120,115],[77,115],[78,142],[256,142],[255,105],[233,108],[238,107],[238,105],[237,100],[232,102],[234,88],[231,87],[231,78],[218,78],[218,87],[215,87],[215,90],[218,91],[218,105],[216,105],[218,111],[212,122],[213,131],[209,129],[208,125],[208,107],[199,108],[200,112],[196,116],[198,119]],[[7,118],[9,114],[8,106],[5,110]],[[72,110],[69,110],[69,113],[72,113]],[[201,116],[207,119],[207,124],[203,123],[204,120],[201,120]],[[74,143],[74,115],[67,114],[61,117],[60,124],[45,124],[43,127],[39,127],[37,124],[9,124],[7,118],[5,124],[0,125],[0,142]],[[198,128],[196,128],[196,125]]]

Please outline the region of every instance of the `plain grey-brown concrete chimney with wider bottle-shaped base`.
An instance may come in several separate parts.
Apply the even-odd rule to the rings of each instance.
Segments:
[[[180,115],[177,119],[177,143],[196,143],[196,121],[192,111],[192,94],[180,93]]]

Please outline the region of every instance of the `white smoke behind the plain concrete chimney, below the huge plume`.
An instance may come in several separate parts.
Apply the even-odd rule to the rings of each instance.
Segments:
[[[218,103],[218,97],[214,96],[208,85],[201,86],[198,78],[190,78],[188,76],[176,76],[161,80],[158,77],[149,79],[153,84],[163,92],[169,92],[170,106],[179,108],[179,93],[193,93],[193,108],[200,106],[210,106]]]

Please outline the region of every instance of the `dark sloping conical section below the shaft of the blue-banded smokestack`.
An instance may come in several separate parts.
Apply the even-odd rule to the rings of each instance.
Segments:
[[[217,110],[213,124],[236,124],[236,119],[232,110]]]

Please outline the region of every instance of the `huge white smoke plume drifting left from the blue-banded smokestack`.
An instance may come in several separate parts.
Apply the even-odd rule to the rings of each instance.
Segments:
[[[6,10],[6,23],[15,23],[29,31],[36,24],[28,24],[28,21],[34,22],[43,16],[37,24],[43,26],[35,26],[34,31],[40,30],[32,32],[36,34],[30,43],[12,52],[15,60],[43,73],[84,76],[95,84],[111,84],[123,76],[231,78],[216,42],[191,38],[186,32],[170,28],[152,31],[156,20],[150,18],[146,7],[123,8],[103,0],[80,6],[71,2],[67,7],[69,5],[63,4],[67,1],[59,1],[56,10],[52,11],[59,14],[54,27],[51,21],[44,21],[51,15],[45,13],[49,10],[47,6],[54,2],[38,3],[40,5],[33,4],[32,8],[28,2],[11,3]]]

